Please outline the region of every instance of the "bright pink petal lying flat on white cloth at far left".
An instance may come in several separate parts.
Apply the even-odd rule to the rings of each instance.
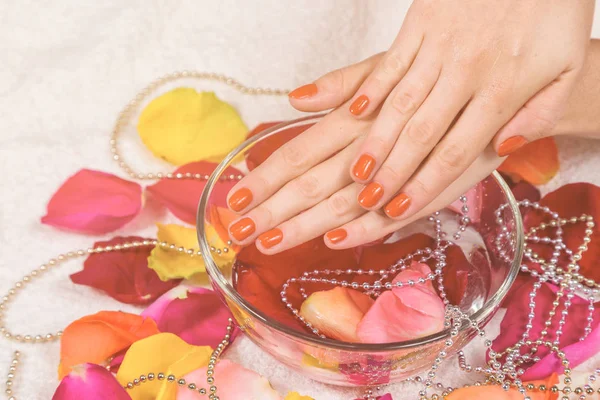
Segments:
[[[142,209],[142,188],[105,172],[82,169],[48,202],[42,223],[84,233],[107,233],[131,221]]]

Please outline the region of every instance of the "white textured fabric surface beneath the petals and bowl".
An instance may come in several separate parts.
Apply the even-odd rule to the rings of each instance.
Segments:
[[[408,0],[0,1],[0,293],[48,258],[94,241],[43,226],[51,194],[82,167],[121,174],[108,138],[121,108],[151,80],[176,70],[220,72],[249,86],[293,88],[331,69],[385,50],[396,35]],[[594,35],[600,37],[600,13]],[[250,127],[298,116],[285,98],[250,99],[222,85]],[[127,159],[142,171],[167,168],[148,156],[133,132]],[[567,182],[600,184],[600,143],[561,139],[562,169],[547,190]],[[122,176],[122,174],[121,174]],[[117,234],[154,236],[153,222],[171,220],[149,200],[143,214]],[[85,287],[68,274],[71,262],[31,285],[8,313],[19,333],[45,334],[102,309],[137,311]],[[498,318],[491,324],[495,334]],[[12,351],[23,365],[15,382],[19,399],[49,399],[57,385],[59,346],[0,340],[0,373]],[[477,346],[469,353],[481,357]],[[229,356],[265,375],[281,393],[290,389],[317,400],[348,400],[354,391],[320,385],[281,366],[247,339]],[[443,376],[459,382],[454,363]],[[0,386],[4,386],[3,384]],[[390,388],[395,400],[416,388]],[[240,399],[242,400],[242,399]]]

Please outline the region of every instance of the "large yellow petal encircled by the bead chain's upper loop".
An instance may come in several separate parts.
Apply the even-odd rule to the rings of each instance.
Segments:
[[[137,129],[155,156],[175,165],[219,162],[248,132],[231,105],[212,92],[192,88],[176,88],[152,100]]]

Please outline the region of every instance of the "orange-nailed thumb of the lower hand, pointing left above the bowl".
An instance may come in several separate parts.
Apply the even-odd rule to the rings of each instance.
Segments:
[[[356,93],[382,56],[383,53],[376,54],[294,89],[289,94],[290,104],[297,110],[307,112],[324,111],[342,105]]]

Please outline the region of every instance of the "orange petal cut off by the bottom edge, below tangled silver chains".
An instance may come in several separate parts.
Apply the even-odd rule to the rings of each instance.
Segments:
[[[550,378],[543,381],[525,382],[524,386],[532,383],[536,387],[539,385],[546,385],[550,388],[558,383],[556,375],[552,375]],[[527,396],[531,400],[556,400],[558,399],[558,393],[552,393],[550,390],[544,392],[539,391],[528,391]],[[463,387],[454,390],[447,397],[447,400],[522,400],[523,395],[515,388],[511,388],[506,391],[497,385],[483,385],[483,386],[470,386]]]

